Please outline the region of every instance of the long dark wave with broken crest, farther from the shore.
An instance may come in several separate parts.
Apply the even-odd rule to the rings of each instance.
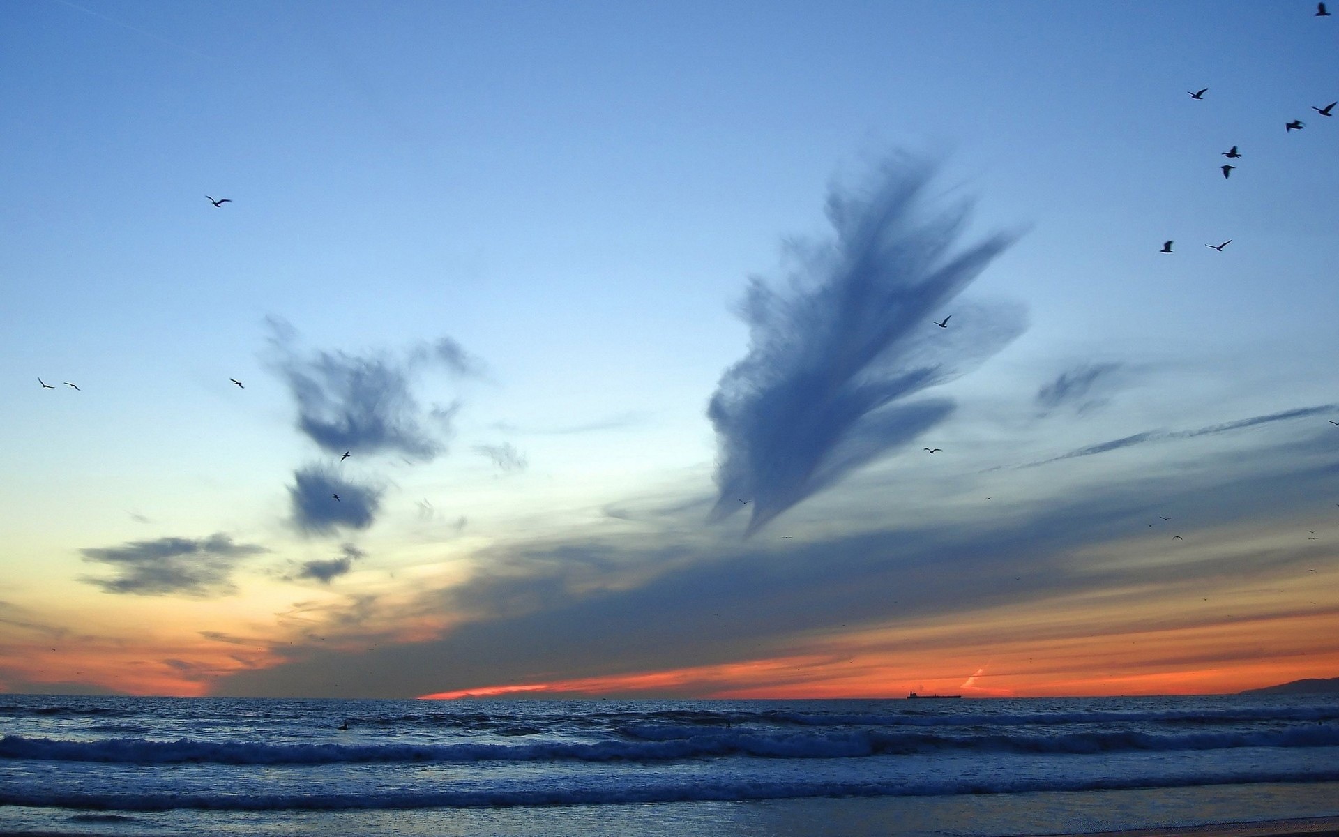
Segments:
[[[1339,746],[1339,726],[1310,726],[1248,733],[1077,731],[1063,734],[976,734],[888,730],[767,733],[732,727],[647,726],[623,741],[525,743],[258,743],[237,741],[150,741],[108,738],[67,741],[5,735],[0,759],[112,762],[134,765],[323,765],[345,762],[663,762],[686,758],[861,758],[912,755],[940,750],[1090,754],[1118,751],[1220,750],[1232,747]]]

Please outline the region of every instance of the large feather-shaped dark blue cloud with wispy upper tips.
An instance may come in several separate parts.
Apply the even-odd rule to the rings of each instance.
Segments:
[[[742,305],[749,354],[707,410],[719,445],[715,520],[750,501],[753,533],[913,441],[953,402],[908,398],[1024,331],[1018,307],[948,307],[1011,238],[957,246],[968,208],[931,208],[932,175],[928,163],[897,159],[861,194],[834,190],[834,238],[797,253],[789,288],[751,281]],[[949,315],[949,327],[935,328],[933,317]]]

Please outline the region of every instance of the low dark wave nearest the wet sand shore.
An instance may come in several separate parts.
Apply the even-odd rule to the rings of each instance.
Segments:
[[[695,781],[688,783],[636,786],[581,786],[566,789],[526,790],[370,790],[364,793],[99,793],[99,791],[27,791],[0,789],[0,806],[64,808],[83,810],[162,812],[194,810],[348,810],[426,808],[521,808],[541,805],[628,805],[648,802],[708,802],[790,800],[803,797],[928,797],[957,794],[1131,790],[1141,787],[1190,787],[1212,785],[1252,785],[1261,782],[1336,782],[1339,767],[1328,770],[1277,771],[1263,775],[1260,770],[1223,773],[1210,777],[1170,778],[949,778],[921,782],[844,782],[844,781]]]

